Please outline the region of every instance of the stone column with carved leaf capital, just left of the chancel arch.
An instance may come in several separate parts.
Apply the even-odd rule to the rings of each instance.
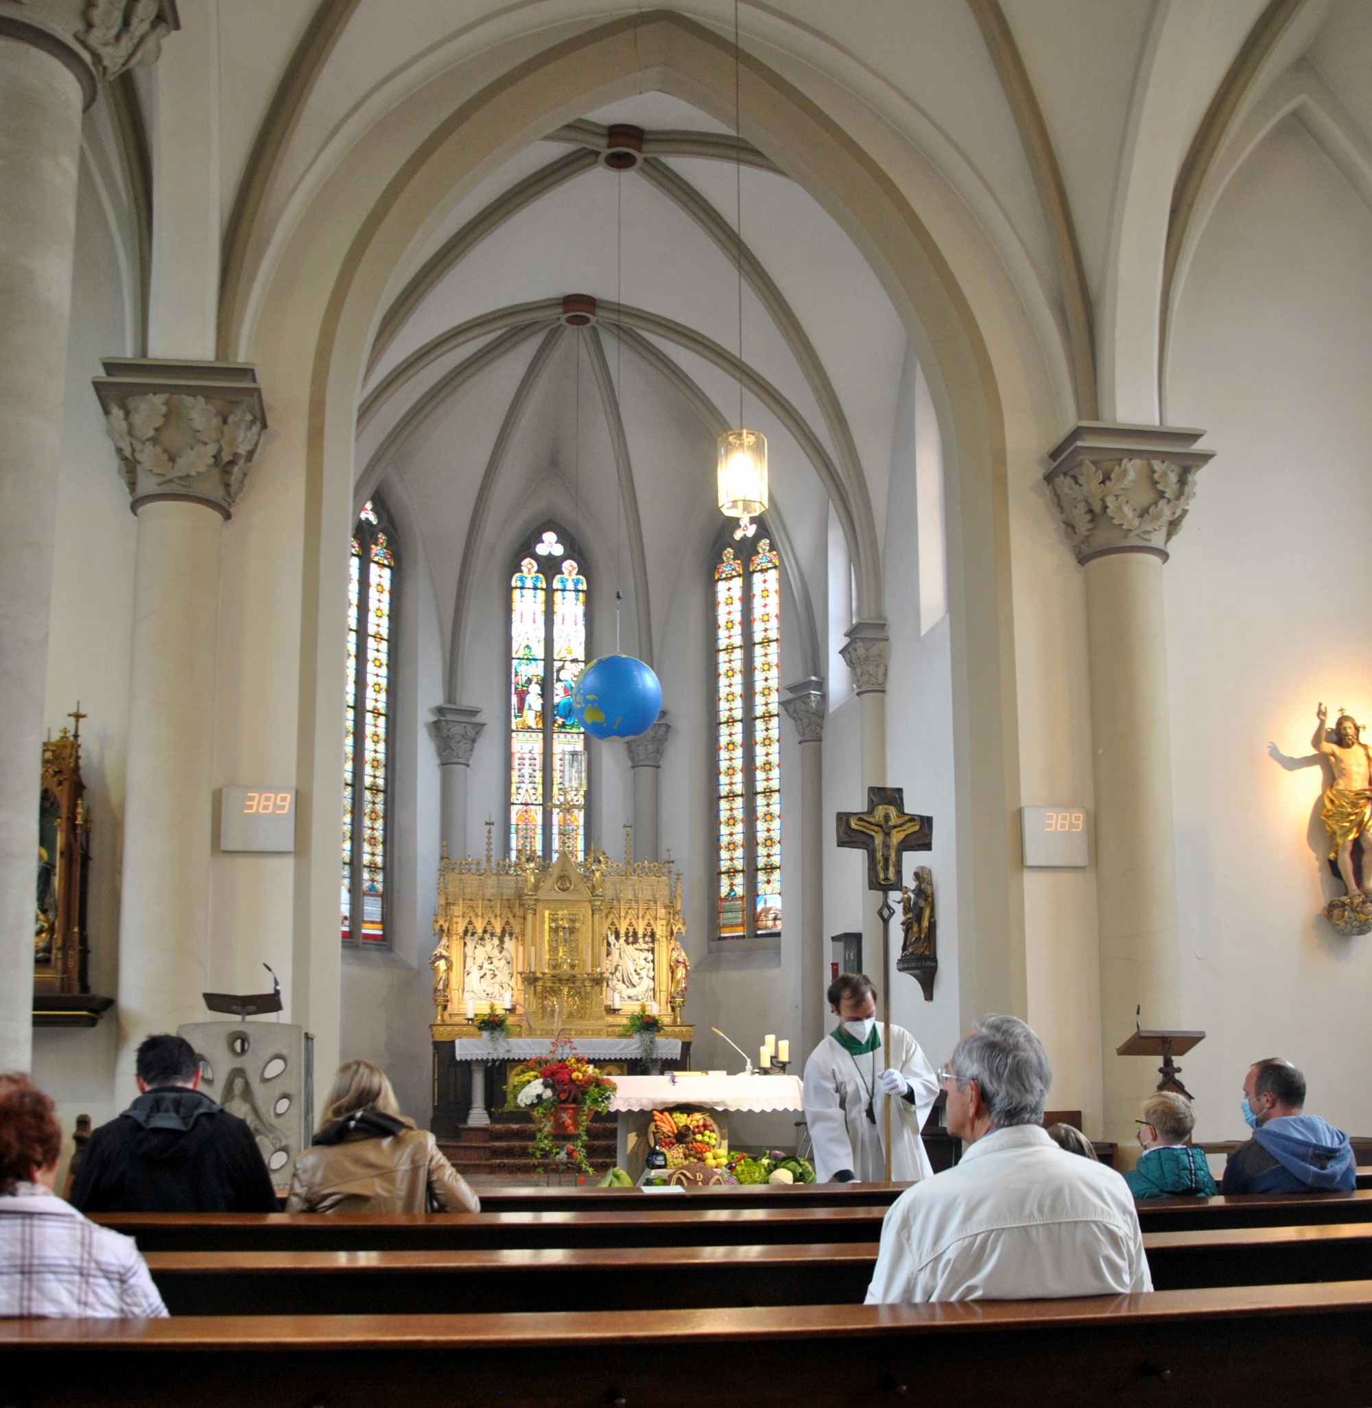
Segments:
[[[252,367],[106,359],[94,382],[138,515],[120,1069],[204,1017],[220,552],[266,421]]]

